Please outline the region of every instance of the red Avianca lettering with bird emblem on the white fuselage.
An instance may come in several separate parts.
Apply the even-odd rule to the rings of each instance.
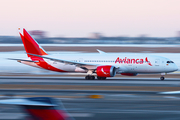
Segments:
[[[144,59],[130,59],[125,57],[124,59],[121,58],[117,58],[115,63],[124,63],[124,64],[143,64],[143,63],[147,63],[148,65],[152,66],[151,62],[148,61],[148,58],[146,57],[145,60]]]

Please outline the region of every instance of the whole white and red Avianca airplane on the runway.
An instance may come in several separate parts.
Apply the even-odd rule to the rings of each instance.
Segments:
[[[73,53],[73,54],[48,54],[38,42],[23,28],[19,29],[27,59],[15,59],[20,63],[33,67],[43,68],[56,72],[87,73],[86,80],[105,80],[116,74],[136,76],[137,74],[164,75],[178,70],[176,64],[168,58],[135,53]]]

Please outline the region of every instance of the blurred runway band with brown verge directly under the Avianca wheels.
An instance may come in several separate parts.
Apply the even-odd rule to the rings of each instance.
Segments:
[[[179,78],[108,78],[85,80],[84,77],[0,77],[0,89],[49,89],[49,90],[178,90]]]

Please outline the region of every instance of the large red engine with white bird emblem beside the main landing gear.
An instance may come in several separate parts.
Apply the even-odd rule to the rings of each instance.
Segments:
[[[99,77],[114,77],[116,75],[116,68],[111,65],[98,66],[96,74]]]

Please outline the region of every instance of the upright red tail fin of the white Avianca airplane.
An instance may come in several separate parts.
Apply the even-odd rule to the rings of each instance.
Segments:
[[[22,33],[19,32],[26,53],[36,54],[36,55],[48,55],[47,52],[36,42],[35,39],[23,28]],[[30,55],[28,55],[30,57]]]

